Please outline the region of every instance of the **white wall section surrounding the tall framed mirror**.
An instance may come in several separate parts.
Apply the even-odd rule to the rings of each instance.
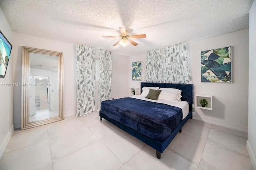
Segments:
[[[22,46],[46,49],[63,53],[64,63],[64,112],[76,112],[76,46],[50,39],[14,33],[13,68],[14,82],[21,83]],[[14,87],[14,128],[21,126],[21,87]]]

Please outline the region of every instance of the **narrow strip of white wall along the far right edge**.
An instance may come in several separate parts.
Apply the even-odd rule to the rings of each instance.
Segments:
[[[249,16],[249,97],[248,97],[248,141],[247,147],[256,169],[256,0]]]

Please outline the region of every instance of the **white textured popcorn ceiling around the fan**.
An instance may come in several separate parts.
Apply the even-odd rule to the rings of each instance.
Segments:
[[[0,0],[12,30],[125,56],[248,28],[253,0]],[[137,46],[112,45],[118,27]]]

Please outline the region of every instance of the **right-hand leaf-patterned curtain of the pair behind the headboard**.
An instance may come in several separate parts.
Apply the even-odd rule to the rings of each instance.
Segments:
[[[192,76],[188,67],[186,43],[165,47],[164,58],[164,83],[192,84]]]

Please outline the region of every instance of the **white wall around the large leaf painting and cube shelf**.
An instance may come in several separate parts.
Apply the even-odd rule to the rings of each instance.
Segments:
[[[188,43],[194,94],[213,95],[213,110],[196,108],[195,119],[247,132],[249,30]],[[201,51],[231,46],[232,83],[201,82]]]

